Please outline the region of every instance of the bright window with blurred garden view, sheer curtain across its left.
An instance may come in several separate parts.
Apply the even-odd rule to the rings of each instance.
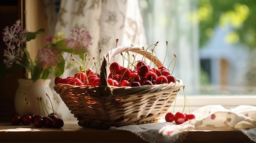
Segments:
[[[156,49],[165,51],[167,40],[166,61],[177,55],[173,75],[182,79],[190,105],[255,105],[256,1],[139,0],[139,4],[147,44],[159,42]],[[158,55],[161,61],[164,54]],[[183,108],[184,101],[179,103]]]

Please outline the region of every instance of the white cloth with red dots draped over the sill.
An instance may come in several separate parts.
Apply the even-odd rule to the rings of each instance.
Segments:
[[[187,132],[196,127],[231,127],[239,130],[256,142],[256,107],[238,106],[225,109],[220,105],[209,105],[192,112],[196,119],[183,124],[148,123],[111,127],[109,130],[130,131],[149,143],[179,143],[186,138]]]

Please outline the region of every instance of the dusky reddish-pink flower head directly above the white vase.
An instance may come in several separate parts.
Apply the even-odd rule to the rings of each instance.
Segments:
[[[57,66],[62,61],[58,53],[62,52],[58,49],[51,49],[49,47],[39,49],[36,57],[38,66],[40,68],[45,68],[45,70]]]

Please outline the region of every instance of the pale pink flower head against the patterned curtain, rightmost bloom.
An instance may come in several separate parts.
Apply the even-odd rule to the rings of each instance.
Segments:
[[[92,37],[88,31],[76,28],[71,30],[70,35],[72,38],[66,41],[69,48],[76,48],[79,52],[85,52],[89,45],[92,45]]]

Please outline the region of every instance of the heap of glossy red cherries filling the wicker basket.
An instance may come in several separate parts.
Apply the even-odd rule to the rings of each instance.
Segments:
[[[175,77],[171,75],[166,66],[158,68],[150,68],[149,64],[139,61],[136,68],[125,68],[119,63],[110,64],[110,74],[108,75],[108,83],[111,86],[141,86],[154,84],[175,83]],[[55,85],[70,84],[74,86],[99,86],[99,73],[95,73],[91,68],[87,68],[86,72],[78,72],[74,77],[55,78]]]

